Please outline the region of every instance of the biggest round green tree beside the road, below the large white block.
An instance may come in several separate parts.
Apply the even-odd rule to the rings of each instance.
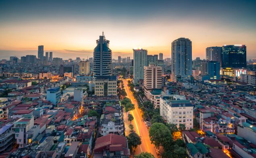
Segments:
[[[158,147],[162,144],[170,144],[173,137],[169,129],[163,123],[153,123],[149,129],[149,137],[152,144]]]

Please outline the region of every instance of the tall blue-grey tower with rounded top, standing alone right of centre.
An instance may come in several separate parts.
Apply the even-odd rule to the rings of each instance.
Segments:
[[[192,75],[192,43],[179,38],[172,42],[171,81],[190,80]]]

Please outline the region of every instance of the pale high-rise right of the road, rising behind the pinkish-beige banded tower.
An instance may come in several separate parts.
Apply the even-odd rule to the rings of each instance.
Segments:
[[[137,84],[139,80],[143,80],[143,68],[147,66],[146,49],[133,49],[133,83]]]

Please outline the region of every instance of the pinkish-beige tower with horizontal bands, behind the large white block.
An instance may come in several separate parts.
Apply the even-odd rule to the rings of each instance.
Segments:
[[[150,99],[150,92],[153,89],[162,88],[162,68],[152,64],[144,66],[143,78],[144,93],[147,99]]]

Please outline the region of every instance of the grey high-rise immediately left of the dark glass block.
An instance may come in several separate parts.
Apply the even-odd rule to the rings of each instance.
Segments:
[[[222,47],[207,47],[206,48],[206,60],[207,61],[216,61],[221,64],[221,53]]]

